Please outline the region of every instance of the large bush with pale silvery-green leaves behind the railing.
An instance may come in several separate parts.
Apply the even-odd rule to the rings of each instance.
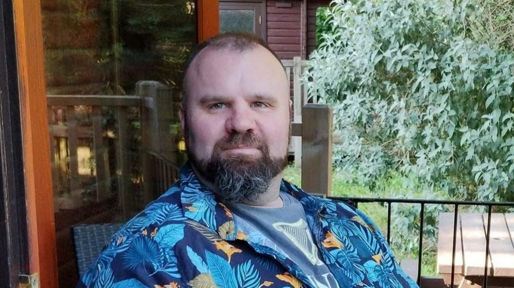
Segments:
[[[514,53],[473,30],[476,2],[336,1],[310,93],[334,110],[334,164],[375,187],[391,171],[452,198],[514,199]]]

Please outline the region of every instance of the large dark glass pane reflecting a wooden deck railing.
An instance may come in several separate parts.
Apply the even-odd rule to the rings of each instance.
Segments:
[[[195,1],[41,1],[60,287],[70,226],[125,222],[185,161],[178,107]]]

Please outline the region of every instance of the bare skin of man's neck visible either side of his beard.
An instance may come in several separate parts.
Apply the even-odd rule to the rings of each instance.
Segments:
[[[217,195],[221,194],[215,188],[214,184],[208,181],[203,175],[198,171],[194,165],[191,164],[191,168],[194,174],[198,177],[200,182],[202,182],[207,188],[212,190]],[[282,173],[280,172],[277,176],[275,176],[271,182],[268,189],[257,199],[256,201],[244,201],[243,204],[251,205],[251,206],[259,206],[264,208],[278,208],[283,206],[283,201],[280,198],[280,183],[282,182]]]

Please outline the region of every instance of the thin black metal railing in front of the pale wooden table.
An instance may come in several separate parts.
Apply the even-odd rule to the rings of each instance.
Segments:
[[[485,257],[485,268],[484,268],[484,279],[483,288],[487,288],[488,278],[488,259],[489,259],[489,240],[491,232],[491,213],[492,207],[514,207],[514,202],[481,202],[481,201],[446,201],[446,200],[423,200],[423,199],[390,199],[390,198],[348,198],[348,197],[327,197],[334,200],[344,201],[350,205],[359,206],[359,203],[387,203],[387,243],[391,244],[391,204],[397,203],[409,203],[419,204],[421,206],[419,212],[419,246],[418,246],[418,274],[416,283],[419,285],[421,282],[421,260],[423,250],[423,222],[424,222],[424,209],[426,204],[441,204],[450,205],[454,207],[453,216],[453,247],[452,247],[452,270],[450,287],[454,285],[455,280],[455,249],[457,243],[457,216],[459,206],[485,206],[487,207],[487,233],[486,233],[486,257]]]

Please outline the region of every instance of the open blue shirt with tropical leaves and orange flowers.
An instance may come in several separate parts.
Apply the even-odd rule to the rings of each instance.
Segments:
[[[286,181],[280,189],[304,206],[314,241],[341,288],[418,287],[359,210]],[[262,245],[262,237],[239,229],[231,211],[186,165],[175,185],[111,238],[77,288],[316,288],[293,261]]]

